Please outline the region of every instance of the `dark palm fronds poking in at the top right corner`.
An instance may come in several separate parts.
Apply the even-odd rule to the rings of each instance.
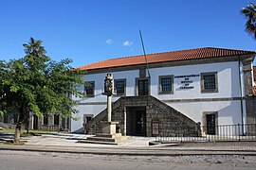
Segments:
[[[250,3],[241,13],[247,18],[246,31],[256,40],[256,5]]]

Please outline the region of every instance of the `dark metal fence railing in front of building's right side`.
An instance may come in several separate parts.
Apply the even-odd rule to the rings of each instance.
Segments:
[[[198,130],[198,127],[194,127]],[[194,136],[187,129],[178,132],[169,132],[166,129],[161,135],[155,136],[159,142],[217,142],[217,141],[256,141],[256,124],[222,125],[213,127],[200,127],[200,135]],[[190,130],[192,131],[192,129]]]

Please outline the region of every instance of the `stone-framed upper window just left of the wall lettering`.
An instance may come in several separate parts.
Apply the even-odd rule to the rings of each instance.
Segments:
[[[174,76],[159,76],[159,93],[174,93]]]

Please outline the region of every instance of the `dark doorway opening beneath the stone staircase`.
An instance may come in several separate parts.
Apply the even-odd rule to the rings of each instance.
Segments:
[[[146,107],[127,107],[127,135],[146,136]]]

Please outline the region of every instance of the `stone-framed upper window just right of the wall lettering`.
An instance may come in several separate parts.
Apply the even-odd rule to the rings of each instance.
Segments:
[[[201,74],[201,92],[202,93],[218,93],[217,73]]]

